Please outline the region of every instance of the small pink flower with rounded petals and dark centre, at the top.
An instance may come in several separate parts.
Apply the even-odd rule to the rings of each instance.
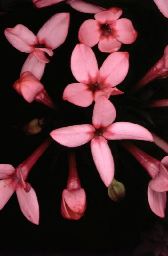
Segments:
[[[132,44],[137,38],[137,32],[130,20],[119,19],[122,13],[117,7],[96,13],[95,20],[86,20],[79,28],[79,41],[90,47],[99,42],[101,52],[116,52],[122,43]]]

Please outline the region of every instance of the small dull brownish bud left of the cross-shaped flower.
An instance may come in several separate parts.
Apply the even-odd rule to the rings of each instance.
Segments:
[[[27,135],[37,134],[41,132],[43,123],[44,123],[44,118],[42,119],[35,118],[23,127],[23,131],[26,132]]]

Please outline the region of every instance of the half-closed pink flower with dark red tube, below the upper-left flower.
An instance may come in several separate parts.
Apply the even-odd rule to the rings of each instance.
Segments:
[[[43,84],[29,71],[20,76],[20,79],[13,84],[13,88],[29,103],[36,100],[50,108],[54,108],[54,104],[45,91]]]

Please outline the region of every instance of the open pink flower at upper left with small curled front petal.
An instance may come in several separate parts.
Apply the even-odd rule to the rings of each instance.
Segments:
[[[52,50],[64,43],[68,34],[69,20],[69,13],[57,13],[42,26],[37,36],[22,24],[18,24],[14,28],[5,29],[4,34],[7,40],[16,49],[26,53],[33,52],[31,58],[28,56],[29,59],[23,65],[22,72],[31,71],[41,79],[45,63],[50,61],[45,53],[53,56]],[[37,59],[43,64],[38,63]]]

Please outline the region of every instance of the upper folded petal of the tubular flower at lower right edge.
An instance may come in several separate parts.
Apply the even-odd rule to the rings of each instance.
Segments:
[[[168,170],[160,164],[160,172],[149,182],[150,188],[157,192],[168,191]]]

